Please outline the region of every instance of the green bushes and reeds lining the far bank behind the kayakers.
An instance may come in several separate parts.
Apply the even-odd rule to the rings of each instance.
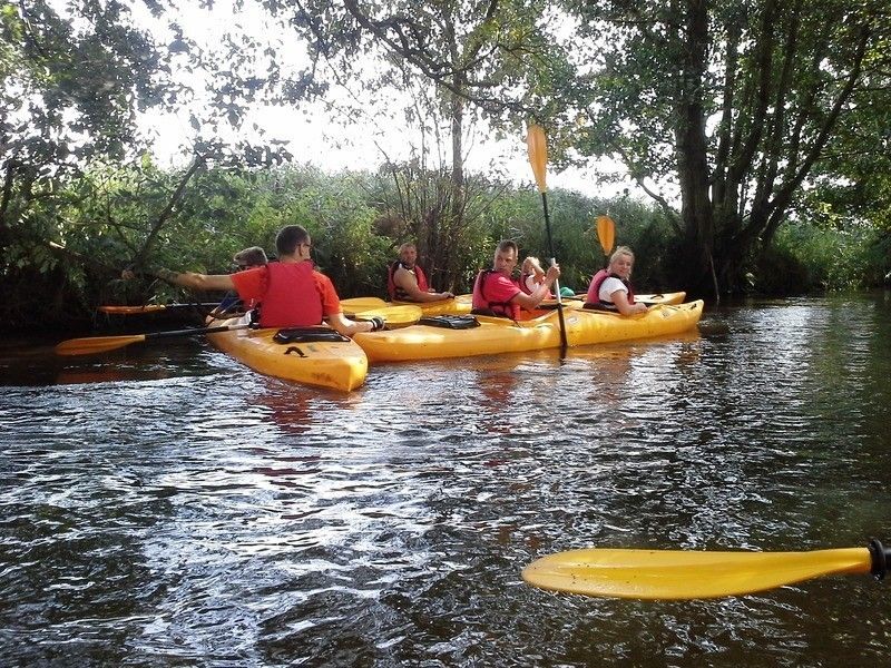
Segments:
[[[470,292],[499,239],[516,239],[521,257],[550,257],[535,188],[468,176],[463,217],[456,220],[440,193],[448,185],[443,175],[394,169],[398,178],[296,166],[202,169],[170,207],[182,174],[159,170],[149,160],[131,168],[97,167],[53,197],[36,199],[17,223],[12,243],[0,249],[1,314],[12,327],[63,326],[89,321],[106,303],[202,299],[160,282],[120,281],[120,269],[140,256],[155,227],[156,240],[145,253],[148,266],[225,273],[236,250],[260,245],[272,255],[283,225],[304,225],[313,235],[316,263],[344,297],[383,296],[386,266],[403,240],[435,253],[438,277],[448,282],[437,287],[457,293]],[[408,202],[407,184],[423,197]],[[608,214],[616,223],[616,246],[630,246],[636,254],[633,281],[640,292],[685,288],[672,284],[678,240],[655,206],[559,189],[548,202],[562,285],[584,292],[605,266],[594,227],[597,216]],[[430,262],[432,253],[423,259]],[[738,279],[765,294],[871,287],[885,281],[890,255],[888,232],[790,223]]]

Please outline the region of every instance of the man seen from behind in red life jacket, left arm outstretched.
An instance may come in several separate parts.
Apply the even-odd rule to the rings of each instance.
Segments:
[[[180,274],[159,269],[155,275],[193,289],[235,289],[245,304],[261,304],[261,327],[304,327],[320,325],[325,318],[345,336],[382,328],[380,318],[355,322],[343,315],[331,279],[314,268],[311,248],[310,233],[300,225],[288,225],[275,238],[278,262],[236,274]]]

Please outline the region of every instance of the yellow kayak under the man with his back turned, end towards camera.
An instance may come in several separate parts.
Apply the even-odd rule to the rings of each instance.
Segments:
[[[232,318],[222,324],[241,322],[242,318]],[[275,340],[280,332],[294,334],[280,335],[280,343]],[[324,326],[237,330],[208,334],[207,338],[254,371],[319,387],[350,392],[365,382],[369,370],[368,357],[359,345]]]

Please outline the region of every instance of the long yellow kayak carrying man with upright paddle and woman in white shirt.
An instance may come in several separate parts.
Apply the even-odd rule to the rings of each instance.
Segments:
[[[677,334],[695,327],[702,314],[703,302],[696,301],[676,306],[658,305],[631,316],[565,308],[564,320],[567,343],[577,346]],[[372,364],[560,347],[559,313],[537,311],[533,315],[519,322],[473,316],[479,325],[470,328],[418,324],[391,332],[356,334],[355,342]],[[448,321],[449,316],[441,320]]]

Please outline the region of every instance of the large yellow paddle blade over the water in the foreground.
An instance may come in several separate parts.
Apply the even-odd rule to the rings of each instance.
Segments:
[[[866,548],[812,552],[569,550],[526,567],[529,584],[613,598],[679,600],[764,591],[832,573],[868,573]]]

